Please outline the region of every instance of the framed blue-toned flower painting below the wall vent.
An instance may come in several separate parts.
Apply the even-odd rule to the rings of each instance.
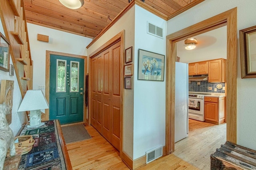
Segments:
[[[138,80],[164,81],[164,57],[139,49]]]

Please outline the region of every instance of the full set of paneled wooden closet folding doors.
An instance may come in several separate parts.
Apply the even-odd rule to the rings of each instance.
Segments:
[[[120,41],[90,59],[91,123],[117,150],[120,149],[121,81]]]

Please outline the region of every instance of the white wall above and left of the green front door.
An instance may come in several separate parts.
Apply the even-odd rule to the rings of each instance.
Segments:
[[[87,56],[86,46],[92,41],[91,38],[42,27],[32,23],[27,23],[27,25],[31,58],[34,61],[34,90],[38,89],[38,85],[45,86],[46,50]],[[38,41],[38,33],[48,35],[49,43]],[[45,90],[43,90],[43,92],[44,91]]]

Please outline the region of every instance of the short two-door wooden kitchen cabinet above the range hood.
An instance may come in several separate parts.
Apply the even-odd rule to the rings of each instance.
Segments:
[[[208,74],[208,61],[188,64],[188,75]]]

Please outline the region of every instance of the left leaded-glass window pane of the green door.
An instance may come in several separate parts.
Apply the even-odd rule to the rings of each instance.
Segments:
[[[57,59],[56,92],[66,92],[66,60]]]

